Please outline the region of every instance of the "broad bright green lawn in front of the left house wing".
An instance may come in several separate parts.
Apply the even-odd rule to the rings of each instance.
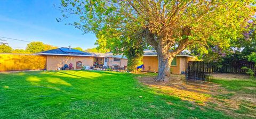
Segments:
[[[232,118],[214,108],[159,93],[139,83],[138,76],[147,75],[100,71],[0,74],[0,118]]]

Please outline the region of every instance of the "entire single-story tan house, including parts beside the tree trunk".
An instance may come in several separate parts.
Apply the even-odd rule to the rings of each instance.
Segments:
[[[34,55],[46,57],[46,70],[58,70],[65,64],[73,64],[74,70],[82,69],[82,66],[127,66],[127,58],[122,55],[113,55],[112,53],[88,53],[71,47],[61,47],[57,49],[47,50]],[[188,61],[193,61],[195,57],[179,54],[174,57],[171,63],[171,72],[173,74],[181,74],[187,69]],[[158,72],[158,58],[155,50],[145,50],[142,59],[145,65],[144,71]]]

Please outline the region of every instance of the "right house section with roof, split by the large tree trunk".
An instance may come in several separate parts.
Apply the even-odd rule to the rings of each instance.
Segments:
[[[188,61],[195,60],[195,57],[179,54],[176,55],[171,63],[171,73],[181,74],[187,69]],[[158,58],[155,50],[145,50],[143,54],[143,64],[145,65],[144,71],[158,72]]]

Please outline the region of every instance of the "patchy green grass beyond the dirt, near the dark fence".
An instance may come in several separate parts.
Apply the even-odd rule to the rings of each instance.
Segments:
[[[256,80],[255,79],[211,79],[211,82],[218,83],[223,88],[226,88],[230,93],[224,95],[214,96],[218,99],[230,99],[231,97],[252,97],[252,100],[256,98]],[[238,100],[238,99],[237,99]],[[251,100],[241,99],[238,103],[239,108],[234,112],[245,115],[243,118],[255,118],[256,105]],[[248,115],[250,117],[248,117]]]

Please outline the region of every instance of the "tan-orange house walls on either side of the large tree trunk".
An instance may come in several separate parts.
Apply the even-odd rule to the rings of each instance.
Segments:
[[[173,74],[180,74],[182,71],[186,70],[187,63],[188,61],[191,61],[191,60],[193,60],[193,58],[177,56],[177,66],[171,66],[171,72]],[[158,72],[157,56],[143,56],[142,62],[145,65],[144,71]],[[150,70],[149,70],[149,66],[150,66]]]

